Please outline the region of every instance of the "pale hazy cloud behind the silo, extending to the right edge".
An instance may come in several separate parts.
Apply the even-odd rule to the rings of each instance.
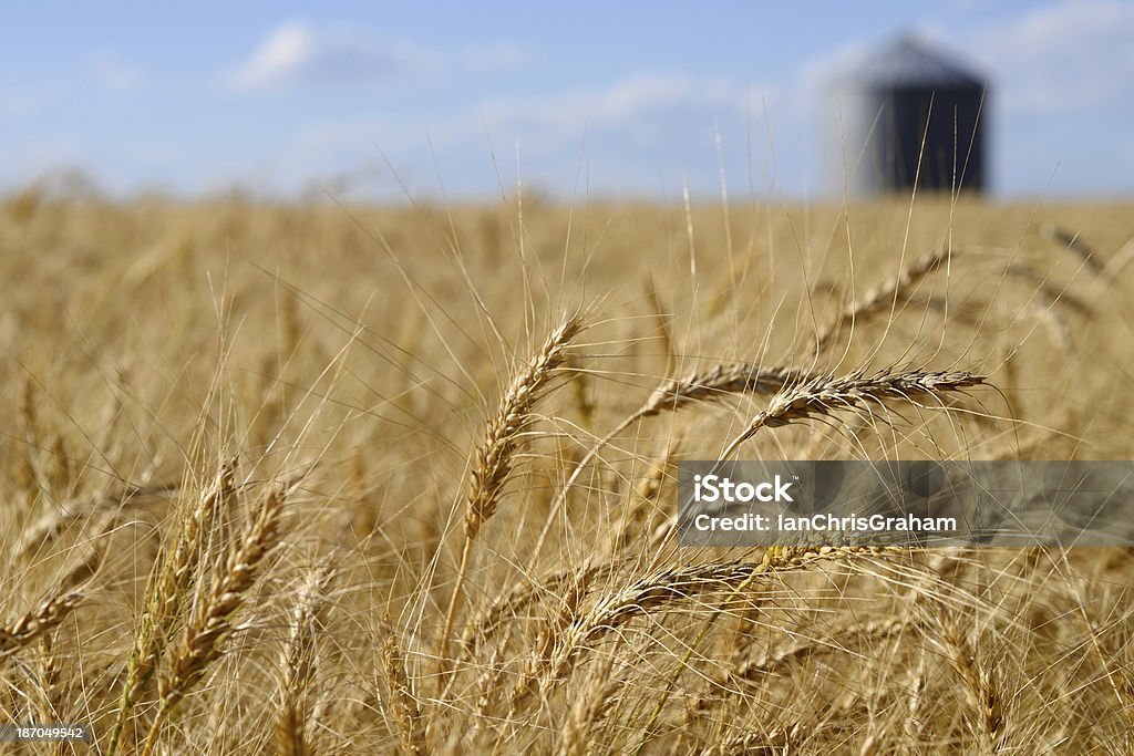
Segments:
[[[1035,192],[1053,172],[1059,186],[1128,190],[1115,168],[1134,117],[1134,5],[1057,0],[996,22],[938,20],[917,31],[989,77],[1000,190]],[[803,66],[796,80],[821,101],[818,82],[880,43],[853,41]]]

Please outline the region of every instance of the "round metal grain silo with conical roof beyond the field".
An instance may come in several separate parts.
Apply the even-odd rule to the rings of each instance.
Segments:
[[[855,195],[985,188],[988,84],[916,36],[835,82],[837,180]]]

